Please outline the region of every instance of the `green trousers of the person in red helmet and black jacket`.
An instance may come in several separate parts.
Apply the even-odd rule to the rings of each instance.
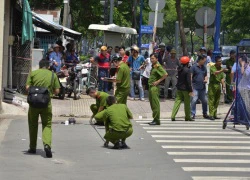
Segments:
[[[190,107],[191,97],[189,96],[188,91],[177,90],[171,118],[175,119],[175,116],[180,109],[182,101],[184,101],[185,120],[190,121],[191,120],[191,107]]]

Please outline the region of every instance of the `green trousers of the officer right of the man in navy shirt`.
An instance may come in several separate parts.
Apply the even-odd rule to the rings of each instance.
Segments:
[[[220,102],[221,85],[220,83],[209,83],[208,85],[208,107],[211,117],[217,116],[217,108]]]

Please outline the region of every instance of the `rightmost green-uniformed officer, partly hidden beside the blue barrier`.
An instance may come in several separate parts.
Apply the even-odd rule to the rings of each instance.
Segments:
[[[234,50],[230,51],[230,59],[226,61],[226,66],[228,71],[226,72],[226,98],[225,103],[231,103],[233,101],[233,91],[230,88],[231,85],[231,71],[235,63],[236,52]]]

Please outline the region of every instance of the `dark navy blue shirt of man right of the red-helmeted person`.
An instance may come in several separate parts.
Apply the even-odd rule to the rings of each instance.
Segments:
[[[190,68],[190,71],[192,73],[193,88],[197,90],[206,88],[204,79],[207,76],[207,68],[204,65],[200,67],[196,63]]]

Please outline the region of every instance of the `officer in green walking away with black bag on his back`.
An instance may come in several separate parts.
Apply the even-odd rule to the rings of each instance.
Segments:
[[[45,87],[48,88],[50,95],[52,97],[53,93],[58,94],[60,84],[56,75],[53,75],[49,71],[49,61],[41,60],[39,62],[40,69],[32,71],[26,82],[26,89],[29,90],[31,86]],[[29,124],[29,136],[30,136],[30,149],[28,153],[35,154],[37,146],[37,132],[38,132],[38,119],[39,115],[42,120],[42,140],[44,144],[44,150],[48,158],[52,157],[51,152],[51,139],[52,139],[52,105],[49,103],[47,108],[33,108],[29,107],[28,112],[28,124]]]

